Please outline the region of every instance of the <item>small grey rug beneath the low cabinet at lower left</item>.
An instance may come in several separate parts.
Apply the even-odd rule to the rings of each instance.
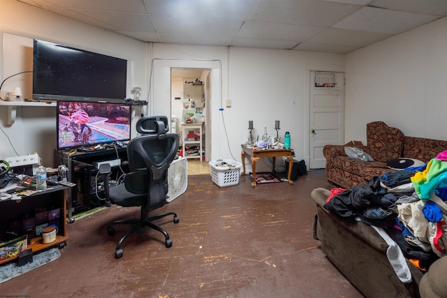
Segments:
[[[41,251],[33,255],[33,262],[27,263],[23,266],[19,266],[18,260],[15,259],[5,265],[0,265],[0,283],[9,281],[12,278],[20,276],[21,274],[27,273],[32,269],[41,267],[51,261],[56,260],[61,256],[59,248],[51,248],[47,251]]]

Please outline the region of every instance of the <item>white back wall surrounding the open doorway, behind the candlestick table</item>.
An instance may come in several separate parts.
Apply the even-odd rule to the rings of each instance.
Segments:
[[[211,160],[241,161],[240,144],[247,141],[248,121],[254,137],[264,127],[274,135],[274,121],[281,121],[281,136],[291,132],[297,159],[309,158],[309,70],[344,71],[344,55],[261,50],[254,48],[154,44],[153,111],[170,112],[170,67],[212,68],[210,114],[207,126]],[[218,77],[218,78],[217,78]],[[225,107],[230,98],[232,107]],[[292,106],[292,100],[297,102]],[[223,111],[219,108],[223,107]],[[207,152],[208,152],[207,148]],[[265,159],[265,158],[264,158]],[[263,160],[259,170],[271,163]],[[250,166],[248,165],[248,170]]]

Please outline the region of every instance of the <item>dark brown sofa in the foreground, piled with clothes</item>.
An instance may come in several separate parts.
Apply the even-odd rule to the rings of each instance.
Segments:
[[[447,256],[432,263],[423,273],[405,259],[411,271],[411,282],[403,283],[388,261],[388,244],[369,225],[353,218],[340,218],[323,206],[330,191],[316,188],[314,238],[335,267],[367,298],[447,297]]]

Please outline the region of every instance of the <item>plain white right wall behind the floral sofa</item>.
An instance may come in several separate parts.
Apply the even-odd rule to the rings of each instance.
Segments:
[[[447,140],[447,18],[346,55],[345,140],[384,121]]]

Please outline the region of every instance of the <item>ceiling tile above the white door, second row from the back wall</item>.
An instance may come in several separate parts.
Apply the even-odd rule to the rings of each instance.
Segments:
[[[390,38],[391,34],[328,28],[306,40],[309,43],[351,45],[365,47],[380,40]]]

